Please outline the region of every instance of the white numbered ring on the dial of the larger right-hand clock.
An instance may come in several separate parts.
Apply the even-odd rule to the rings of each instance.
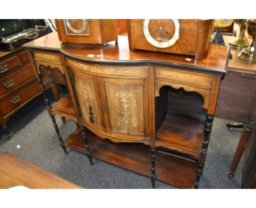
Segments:
[[[171,19],[175,26],[175,32],[174,32],[174,35],[172,36],[172,38],[166,42],[160,42],[160,44],[159,44],[159,41],[156,41],[149,33],[148,25],[149,25],[150,20],[151,19],[145,19],[142,22],[143,34],[144,34],[144,37],[146,38],[146,40],[149,42],[149,44],[151,44],[157,48],[168,48],[168,47],[171,47],[174,44],[176,44],[176,42],[179,39],[179,35],[181,34],[181,24],[179,23],[178,19]]]

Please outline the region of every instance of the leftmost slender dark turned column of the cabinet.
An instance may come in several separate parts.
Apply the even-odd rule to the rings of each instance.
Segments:
[[[64,142],[61,138],[61,135],[60,135],[60,131],[59,131],[59,127],[57,126],[57,123],[56,123],[56,120],[55,120],[55,117],[54,115],[51,113],[51,105],[50,105],[50,102],[49,102],[49,99],[48,99],[48,96],[46,94],[46,90],[44,88],[44,84],[43,84],[43,79],[42,79],[42,70],[43,70],[43,65],[40,65],[39,66],[39,71],[40,73],[38,74],[38,82],[39,82],[39,85],[40,85],[40,88],[41,88],[41,91],[43,93],[43,96],[44,96],[44,101],[46,103],[46,109],[47,109],[47,112],[51,118],[51,121],[53,121],[53,124],[54,124],[54,129],[57,133],[57,136],[58,136],[58,139],[59,139],[59,143],[60,143],[60,146],[61,148],[63,149],[65,155],[67,155],[67,149],[66,149],[66,146],[64,146]]]

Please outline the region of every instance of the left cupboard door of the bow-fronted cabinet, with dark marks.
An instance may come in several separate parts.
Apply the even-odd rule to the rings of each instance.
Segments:
[[[72,71],[83,121],[105,130],[97,77]]]

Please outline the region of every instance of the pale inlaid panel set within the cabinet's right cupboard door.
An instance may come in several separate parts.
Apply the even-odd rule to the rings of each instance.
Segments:
[[[112,132],[144,134],[143,84],[105,83]]]

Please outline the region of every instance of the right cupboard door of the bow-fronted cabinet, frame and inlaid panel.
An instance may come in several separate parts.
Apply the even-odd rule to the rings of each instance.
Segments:
[[[98,79],[107,132],[147,137],[147,79]]]

